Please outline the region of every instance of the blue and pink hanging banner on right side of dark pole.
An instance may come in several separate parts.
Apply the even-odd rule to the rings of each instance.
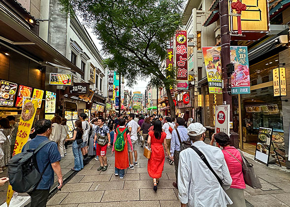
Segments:
[[[250,94],[248,48],[231,46],[230,60],[235,67],[235,72],[231,75],[232,94]]]

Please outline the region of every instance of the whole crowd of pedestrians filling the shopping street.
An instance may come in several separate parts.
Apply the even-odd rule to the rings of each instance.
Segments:
[[[130,113],[109,115],[106,119],[94,117],[90,122],[87,119],[85,113],[79,114],[71,138],[67,120],[61,116],[35,122],[30,141],[22,149],[23,153],[37,149],[38,171],[43,172],[36,188],[28,192],[32,198],[31,207],[46,206],[54,173],[58,177],[57,187],[61,189],[60,160],[67,155],[70,143],[74,156],[72,171],[81,171],[91,156],[100,162],[97,171],[107,171],[106,154],[111,150],[115,156],[114,175],[123,179],[126,169],[134,170],[138,166],[138,148],[143,147],[150,151],[147,172],[155,192],[165,161],[174,164],[176,180],[172,185],[179,190],[181,207],[246,206],[242,155],[229,145],[230,139],[225,133],[214,134],[210,144],[206,144],[205,127],[200,123],[187,126],[181,117]],[[0,167],[3,169],[13,152],[18,128],[15,117],[0,119],[0,128],[0,157],[3,157]],[[214,146],[215,143],[220,147]],[[8,180],[0,178],[0,185]]]

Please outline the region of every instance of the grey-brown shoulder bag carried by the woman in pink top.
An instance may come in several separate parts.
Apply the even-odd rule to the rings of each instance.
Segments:
[[[225,151],[228,152],[231,156],[233,156],[242,165],[245,183],[254,189],[261,188],[262,185],[260,183],[259,178],[256,176],[254,172],[253,164],[249,163],[249,161],[246,159],[246,157],[244,156],[244,154],[242,153],[240,149],[238,150],[241,154],[243,163],[241,163],[232,153],[230,153],[227,150]]]

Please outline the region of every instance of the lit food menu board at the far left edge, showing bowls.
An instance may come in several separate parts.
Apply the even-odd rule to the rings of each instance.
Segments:
[[[0,106],[13,106],[17,84],[5,80],[0,81]]]

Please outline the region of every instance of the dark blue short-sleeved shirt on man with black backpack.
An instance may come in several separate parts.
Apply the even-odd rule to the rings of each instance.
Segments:
[[[29,148],[36,149],[37,146],[45,140],[47,140],[47,137],[37,135],[36,138],[32,139],[29,142]],[[22,152],[23,152],[24,146],[22,148]],[[46,144],[36,154],[36,162],[37,162],[37,166],[40,173],[43,172],[47,163],[55,163],[60,160],[61,160],[61,155],[58,151],[57,143],[55,142],[50,142]],[[36,189],[37,190],[49,189],[53,185],[53,183],[54,183],[54,171],[50,164],[48,165],[46,171],[42,175],[42,178],[38,186],[36,187]]]

